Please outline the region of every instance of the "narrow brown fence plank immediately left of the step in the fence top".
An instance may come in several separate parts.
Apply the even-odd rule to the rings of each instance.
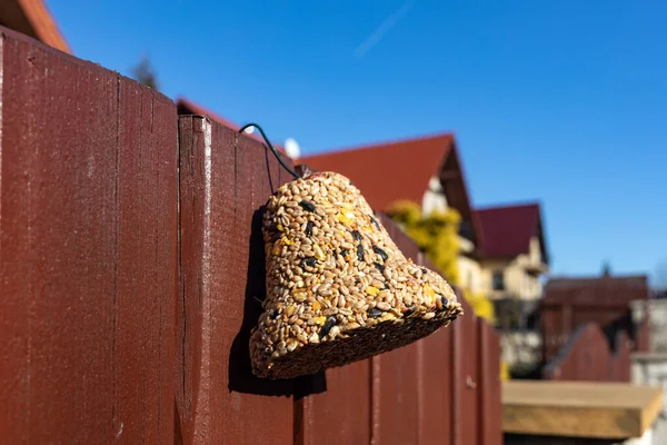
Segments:
[[[123,441],[166,443],[173,436],[178,122],[175,105],[139,83],[122,80],[119,101],[113,416]]]

